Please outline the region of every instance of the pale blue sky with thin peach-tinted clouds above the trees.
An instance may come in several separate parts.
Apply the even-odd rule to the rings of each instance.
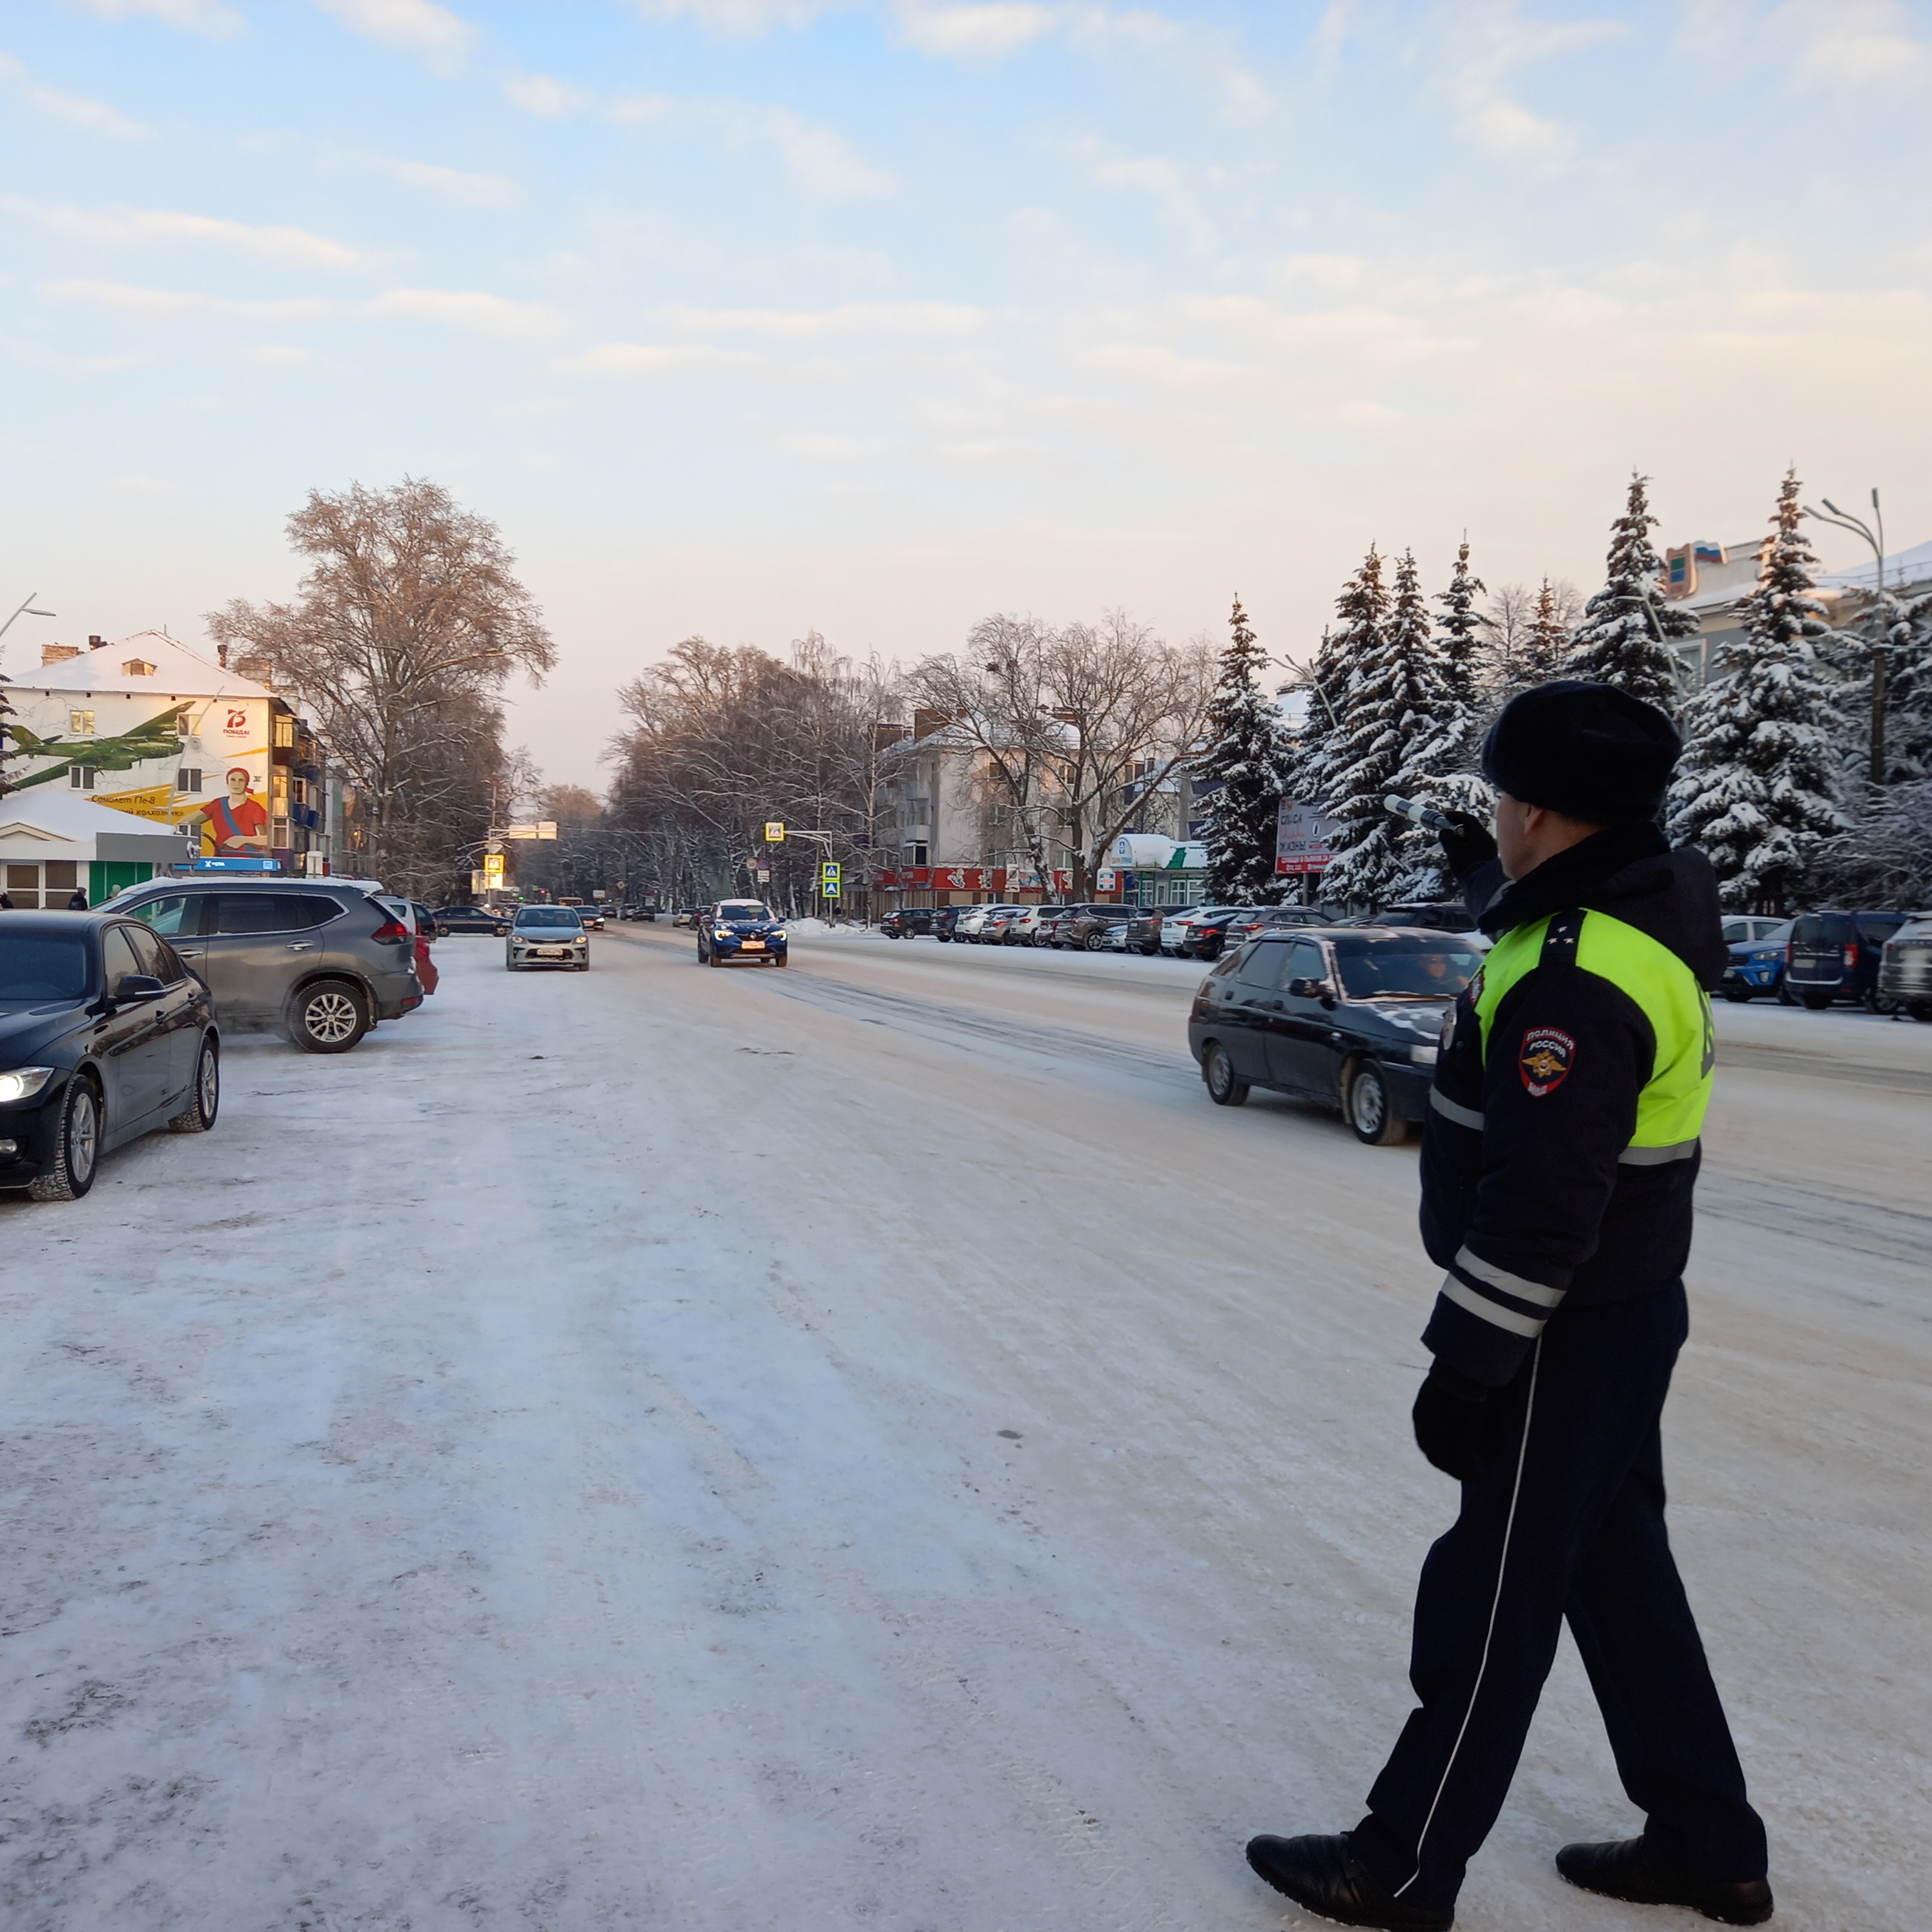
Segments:
[[[1633,464],[1665,541],[1795,462],[1918,543],[1926,99],[1893,0],[12,0],[6,663],[199,639],[404,473],[504,527],[512,732],[591,784],[690,632],[1238,591],[1304,655],[1370,541],[1588,589]]]

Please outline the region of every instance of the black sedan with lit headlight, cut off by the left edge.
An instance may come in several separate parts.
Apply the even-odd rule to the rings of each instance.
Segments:
[[[0,918],[0,1188],[79,1200],[100,1155],[220,1105],[209,989],[145,925],[99,912]]]

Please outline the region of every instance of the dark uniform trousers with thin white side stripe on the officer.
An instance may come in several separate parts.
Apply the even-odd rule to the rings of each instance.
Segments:
[[[1463,1486],[1463,1513],[1416,1590],[1408,1681],[1422,1708],[1352,1839],[1416,1905],[1455,1903],[1503,1808],[1565,1617],[1654,1857],[1702,1878],[1764,1876],[1764,1824],[1663,1530],[1658,1422],[1687,1321],[1683,1283],[1559,1310],[1490,1397],[1488,1468]]]

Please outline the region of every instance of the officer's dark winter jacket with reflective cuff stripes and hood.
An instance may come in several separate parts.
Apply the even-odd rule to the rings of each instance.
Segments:
[[[1463,887],[1492,937],[1582,908],[1669,947],[1704,987],[1725,968],[1710,862],[1654,825],[1596,833],[1513,885],[1490,860]],[[1549,1088],[1520,1065],[1538,1028],[1569,1041]],[[1447,1269],[1422,1341],[1439,1362],[1499,1387],[1565,1306],[1634,1300],[1683,1275],[1698,1155],[1617,1159],[1654,1057],[1636,1001],[1575,966],[1536,966],[1509,989],[1488,1066],[1474,987],[1457,1001],[1422,1128],[1422,1242]]]

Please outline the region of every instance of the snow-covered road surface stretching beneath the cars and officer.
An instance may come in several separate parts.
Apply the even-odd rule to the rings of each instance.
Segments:
[[[1453,1486],[1414,1151],[1208,1103],[1200,968],[439,947],[0,1204],[8,1932],[1300,1922]],[[1918,1932],[1932,1028],[1721,1009],[1677,1544],[1779,1922]],[[1633,1826],[1565,1648],[1459,1922]]]

